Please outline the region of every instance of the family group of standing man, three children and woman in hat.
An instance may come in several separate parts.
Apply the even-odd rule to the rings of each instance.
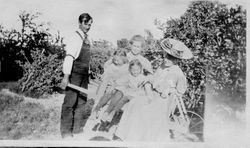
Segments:
[[[131,50],[117,49],[104,65],[102,83],[98,87],[92,113],[84,114],[87,94],[68,88],[67,84],[88,86],[90,43],[87,32],[92,17],[79,16],[79,29],[66,45],[63,63],[66,89],[62,105],[61,135],[63,138],[84,132],[88,118],[94,118],[98,129],[110,125],[114,114],[123,109],[115,136],[123,141],[166,141],[170,139],[169,115],[174,97],[181,97],[187,80],[177,66],[178,60],[192,58],[191,51],[180,41],[165,38],[160,41],[163,61],[153,70],[150,61],[141,55],[145,40],[135,35],[130,40]],[[109,102],[109,103],[108,103]],[[106,106],[103,113],[100,110]]]

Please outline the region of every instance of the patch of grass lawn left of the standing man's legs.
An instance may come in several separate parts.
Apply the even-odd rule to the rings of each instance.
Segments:
[[[59,101],[60,98],[30,99],[2,90],[0,140],[59,139]]]

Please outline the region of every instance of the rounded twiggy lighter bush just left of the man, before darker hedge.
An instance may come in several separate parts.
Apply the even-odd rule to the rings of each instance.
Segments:
[[[32,97],[52,94],[62,79],[62,60],[57,54],[46,56],[43,51],[32,51],[32,63],[25,62],[20,66],[24,76],[18,81],[22,92]]]

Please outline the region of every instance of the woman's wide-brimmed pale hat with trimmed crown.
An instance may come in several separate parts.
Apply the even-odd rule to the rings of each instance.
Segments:
[[[193,54],[191,50],[181,41],[165,38],[160,41],[163,50],[168,54],[179,59],[191,59]]]

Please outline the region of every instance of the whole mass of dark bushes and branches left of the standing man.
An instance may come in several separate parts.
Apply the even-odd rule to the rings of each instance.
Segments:
[[[0,59],[10,63],[7,65],[15,65],[10,70],[6,67],[5,73],[10,73],[8,77],[17,73],[17,89],[32,97],[53,92],[62,79],[65,54],[60,34],[52,35],[45,23],[37,23],[39,15],[23,11],[19,15],[21,31],[1,29]]]

